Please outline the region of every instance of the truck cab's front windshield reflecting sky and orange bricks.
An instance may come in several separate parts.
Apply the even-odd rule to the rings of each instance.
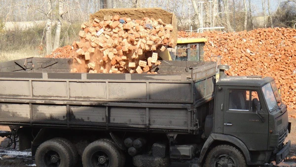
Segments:
[[[275,111],[282,104],[276,84],[274,82],[267,83],[262,87],[262,91],[268,106],[268,110],[270,112]]]

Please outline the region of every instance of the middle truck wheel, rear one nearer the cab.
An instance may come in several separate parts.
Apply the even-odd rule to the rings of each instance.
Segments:
[[[83,167],[120,167],[121,157],[118,148],[109,141],[97,140],[83,151]]]

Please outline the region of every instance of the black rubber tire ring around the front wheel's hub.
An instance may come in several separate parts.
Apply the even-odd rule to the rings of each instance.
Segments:
[[[241,153],[241,151],[239,151],[236,147],[232,146],[232,145],[228,145],[228,144],[223,144],[223,145],[218,145],[216,147],[214,147],[208,154],[204,167],[211,167],[211,161],[214,159],[213,158],[213,154],[215,154],[217,151],[220,150],[229,150],[232,151],[234,154],[236,154],[237,158],[238,158],[238,167],[248,167],[246,160],[245,160],[245,156]]]

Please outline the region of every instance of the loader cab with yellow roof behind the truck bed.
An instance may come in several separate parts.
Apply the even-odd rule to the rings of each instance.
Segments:
[[[158,53],[163,60],[203,61],[206,38],[178,38],[175,48]]]

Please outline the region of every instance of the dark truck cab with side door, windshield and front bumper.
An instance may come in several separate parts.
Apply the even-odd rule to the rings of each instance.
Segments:
[[[243,154],[245,162],[240,163],[239,154],[226,154],[227,148],[223,147],[222,153],[219,149],[207,152],[207,159],[215,159],[216,165],[233,165],[236,160],[238,166],[271,161],[279,164],[290,151],[291,141],[284,143],[290,130],[287,106],[282,103],[273,78],[222,77],[215,88],[212,133],[202,154],[206,153],[207,146],[215,142],[221,146],[219,142],[226,142],[234,146],[230,149],[234,155],[236,149]]]

